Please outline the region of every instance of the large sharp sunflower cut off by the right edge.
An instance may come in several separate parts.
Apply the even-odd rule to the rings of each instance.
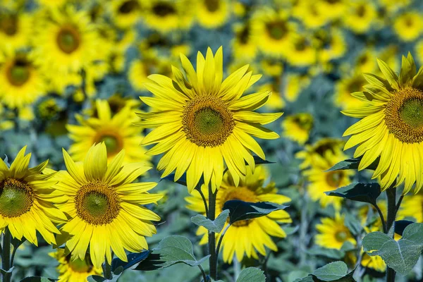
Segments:
[[[408,54],[403,56],[398,78],[384,61],[378,63],[384,78],[364,74],[369,82],[366,91],[353,93],[369,106],[343,111],[346,116],[362,118],[345,131],[344,136],[352,136],[344,149],[359,145],[354,154],[362,156],[359,170],[380,157],[372,178],[381,179],[382,190],[396,180],[395,186],[405,182],[404,194],[414,184],[418,192],[423,186],[423,68],[417,73]]]

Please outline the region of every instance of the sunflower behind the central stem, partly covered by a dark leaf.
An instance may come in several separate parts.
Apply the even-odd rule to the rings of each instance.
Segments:
[[[276,204],[290,202],[290,198],[277,194],[275,183],[271,182],[268,185],[264,185],[267,176],[263,166],[257,166],[254,173],[248,168],[245,180],[241,180],[237,187],[231,175],[226,173],[216,195],[216,216],[222,212],[223,204],[229,200],[274,202]],[[202,192],[208,199],[209,190],[204,185],[202,186]],[[202,214],[205,213],[200,193],[192,194],[190,197],[186,197],[185,200],[188,202],[188,209]],[[257,259],[257,252],[260,255],[266,255],[265,247],[276,251],[278,248],[271,236],[285,238],[286,233],[279,226],[279,223],[290,222],[292,221],[289,214],[284,210],[280,210],[257,219],[233,223],[222,239],[223,261],[231,264],[234,255],[238,262],[243,259],[244,255]],[[197,235],[203,236],[200,244],[207,243],[207,233],[206,228],[198,228]]]

